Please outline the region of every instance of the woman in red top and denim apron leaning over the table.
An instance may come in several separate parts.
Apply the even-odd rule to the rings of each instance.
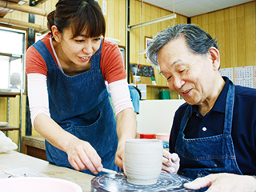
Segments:
[[[50,33],[26,53],[31,119],[46,138],[47,159],[87,174],[102,166],[118,171],[136,120],[122,55],[102,38],[101,8],[94,0],[60,0],[47,19]]]

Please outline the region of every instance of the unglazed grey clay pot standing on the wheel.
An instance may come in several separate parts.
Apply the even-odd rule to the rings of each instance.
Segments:
[[[125,146],[127,181],[135,185],[158,182],[162,170],[162,141],[158,139],[129,139]]]

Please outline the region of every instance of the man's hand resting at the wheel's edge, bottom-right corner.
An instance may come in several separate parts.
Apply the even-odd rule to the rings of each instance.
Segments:
[[[198,190],[209,186],[210,191],[256,191],[256,178],[238,174],[209,174],[184,184],[186,189]]]

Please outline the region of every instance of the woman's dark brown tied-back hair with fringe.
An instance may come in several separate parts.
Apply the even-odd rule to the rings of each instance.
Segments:
[[[59,0],[56,10],[47,16],[48,29],[57,26],[60,33],[67,28],[73,31],[73,38],[86,30],[88,38],[105,37],[106,22],[101,7],[94,0]]]

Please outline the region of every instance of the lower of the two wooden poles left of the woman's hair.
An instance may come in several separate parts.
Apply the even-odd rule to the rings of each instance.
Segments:
[[[22,22],[22,21],[10,19],[10,18],[0,18],[0,22],[2,22],[3,24],[7,24],[7,25],[24,26],[24,27],[31,28],[34,30],[40,30],[40,31],[47,30],[46,26],[41,26],[41,25],[37,25],[34,23],[30,23],[30,22]]]

